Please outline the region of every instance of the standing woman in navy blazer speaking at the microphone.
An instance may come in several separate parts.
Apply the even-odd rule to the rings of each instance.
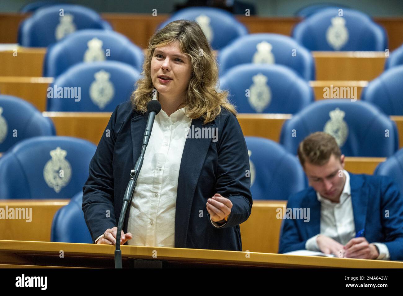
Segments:
[[[234,106],[217,91],[212,49],[193,21],[179,20],[148,43],[131,100],[116,107],[83,187],[85,221],[97,244],[116,244],[130,171],[140,155],[147,103],[155,116],[120,244],[242,250],[251,213],[249,157]]]

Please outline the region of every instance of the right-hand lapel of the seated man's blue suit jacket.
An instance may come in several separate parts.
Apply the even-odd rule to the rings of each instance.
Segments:
[[[368,188],[366,186],[363,186],[364,182],[361,176],[351,174],[350,172],[349,175],[350,175],[351,202],[353,204],[355,233],[357,233],[365,228],[365,221],[367,217],[367,207],[368,207],[368,197],[367,197]]]

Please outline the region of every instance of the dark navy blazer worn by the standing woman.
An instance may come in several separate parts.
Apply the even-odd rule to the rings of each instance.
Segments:
[[[130,171],[140,155],[148,114],[133,110],[126,101],[116,107],[89,165],[83,187],[83,212],[92,239],[117,226]],[[251,213],[249,156],[237,118],[222,108],[210,124],[192,120],[194,128],[218,128],[218,141],[186,139],[179,170],[175,247],[242,250],[239,224]],[[110,137],[107,132],[110,131]],[[210,221],[207,199],[220,193],[233,203],[221,228]],[[106,211],[110,210],[110,217]],[[123,231],[127,232],[130,205]],[[202,216],[202,217],[201,217]]]

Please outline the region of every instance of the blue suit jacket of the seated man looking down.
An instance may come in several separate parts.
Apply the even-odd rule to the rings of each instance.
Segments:
[[[390,260],[403,260],[403,198],[396,184],[384,176],[349,175],[355,231],[364,228],[368,242],[386,244]],[[292,195],[287,208],[310,208],[310,221],[284,219],[278,253],[304,250],[306,241],[320,233],[320,201],[314,188]]]

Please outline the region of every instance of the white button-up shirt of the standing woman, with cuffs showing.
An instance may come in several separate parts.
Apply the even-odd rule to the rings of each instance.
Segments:
[[[174,247],[179,168],[191,122],[185,107],[169,117],[162,109],[156,114],[129,205],[127,232],[133,237],[128,245]],[[216,228],[225,225],[210,221]]]

